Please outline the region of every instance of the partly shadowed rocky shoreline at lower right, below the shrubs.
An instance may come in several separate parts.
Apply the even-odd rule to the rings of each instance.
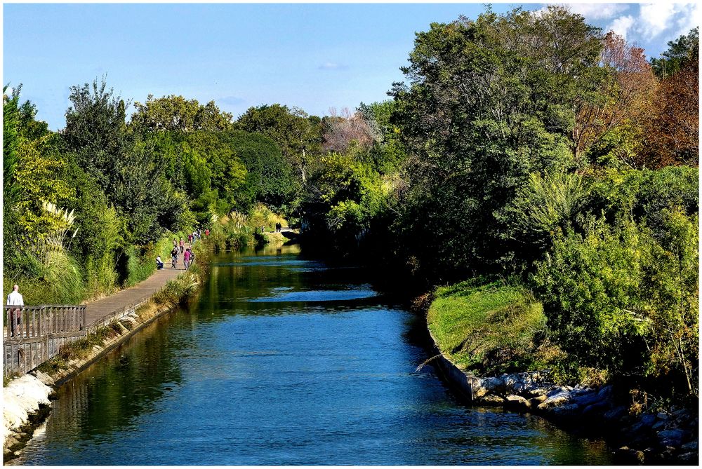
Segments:
[[[602,435],[618,448],[614,455],[621,463],[698,464],[696,414],[673,408],[670,413],[633,415],[613,386],[559,386],[548,378],[548,372],[526,372],[471,379],[473,402],[538,414],[588,435]]]

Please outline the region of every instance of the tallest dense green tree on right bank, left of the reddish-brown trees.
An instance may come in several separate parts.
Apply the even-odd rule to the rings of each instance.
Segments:
[[[582,96],[602,81],[601,48],[597,28],[553,6],[488,11],[417,34],[402,69],[409,84],[390,93],[391,122],[412,154],[398,229],[420,265],[446,280],[508,264],[513,247],[495,214],[530,173],[584,163],[572,130]]]

